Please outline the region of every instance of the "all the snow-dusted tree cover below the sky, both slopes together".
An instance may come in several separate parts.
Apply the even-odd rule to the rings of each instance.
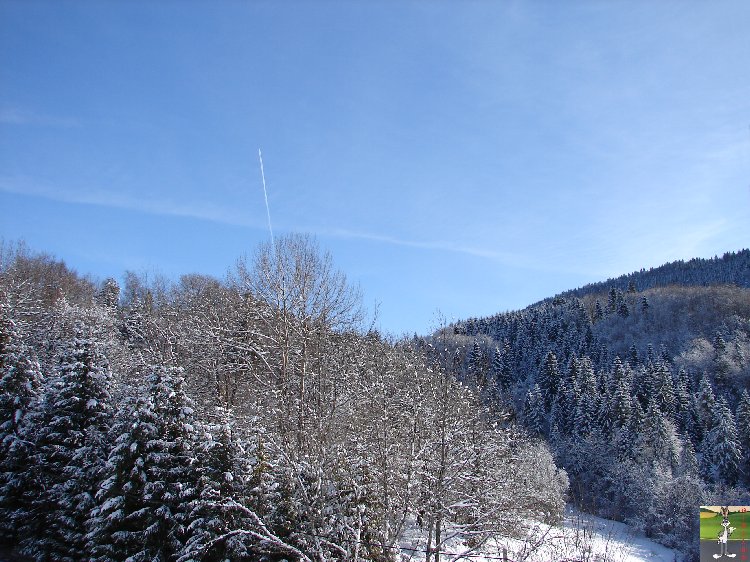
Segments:
[[[394,341],[305,236],[122,286],[4,245],[0,544],[387,561],[420,529],[437,562],[572,500],[692,558],[698,505],[750,503],[749,256]]]

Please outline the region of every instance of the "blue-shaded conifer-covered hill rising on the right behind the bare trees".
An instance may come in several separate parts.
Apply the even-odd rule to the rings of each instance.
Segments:
[[[748,250],[675,262],[433,340],[548,441],[577,503],[680,547],[701,502],[750,503],[749,281]]]

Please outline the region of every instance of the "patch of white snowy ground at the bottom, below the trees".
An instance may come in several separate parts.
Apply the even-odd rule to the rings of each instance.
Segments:
[[[674,550],[633,531],[624,523],[566,509],[562,526],[525,524],[525,540],[498,537],[480,549],[471,550],[456,537],[441,549],[442,560],[467,562],[674,562]],[[401,560],[425,559],[426,537],[412,527],[401,541]]]

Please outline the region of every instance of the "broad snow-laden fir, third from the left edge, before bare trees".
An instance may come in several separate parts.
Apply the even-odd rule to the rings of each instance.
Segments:
[[[154,367],[148,394],[131,400],[88,521],[96,560],[172,560],[187,540],[197,495],[195,420],[181,370]]]

